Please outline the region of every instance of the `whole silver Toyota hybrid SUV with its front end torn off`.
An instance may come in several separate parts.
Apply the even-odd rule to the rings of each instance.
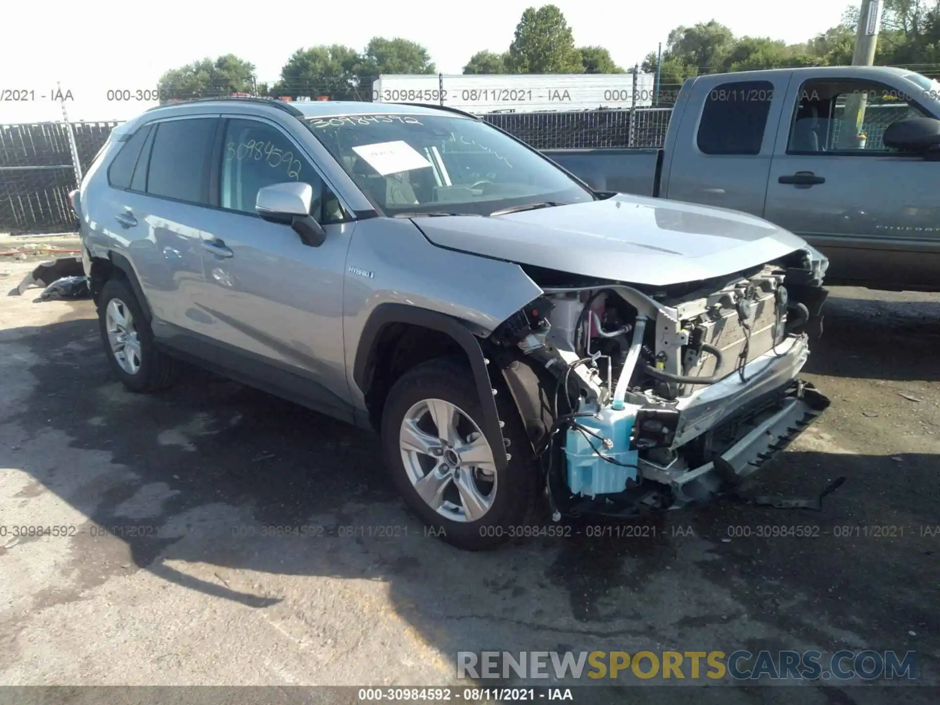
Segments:
[[[459,111],[162,106],[72,196],[123,384],[183,359],[380,431],[407,504],[464,548],[536,508],[709,499],[828,404],[797,379],[825,297],[807,243],[594,192]]]

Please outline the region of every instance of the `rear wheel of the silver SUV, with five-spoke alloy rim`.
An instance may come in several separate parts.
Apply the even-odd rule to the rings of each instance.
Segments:
[[[99,328],[111,368],[133,392],[151,392],[173,384],[176,364],[157,350],[153,333],[131,288],[110,279],[98,306]]]

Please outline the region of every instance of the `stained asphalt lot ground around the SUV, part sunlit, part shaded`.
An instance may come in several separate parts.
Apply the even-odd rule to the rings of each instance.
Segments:
[[[5,291],[32,259],[0,261]],[[940,295],[832,290],[804,375],[832,405],[749,489],[847,478],[822,511],[719,501],[471,554],[403,509],[375,436],[198,370],[135,395],[91,302],[38,292],[0,305],[0,684],[463,686],[459,651],[871,649],[917,651],[919,685],[681,700],[938,701]]]

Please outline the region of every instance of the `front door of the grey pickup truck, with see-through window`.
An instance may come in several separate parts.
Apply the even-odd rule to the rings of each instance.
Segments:
[[[882,141],[892,122],[932,116],[891,80],[830,73],[788,91],[764,217],[820,249],[831,283],[940,283],[940,163]]]

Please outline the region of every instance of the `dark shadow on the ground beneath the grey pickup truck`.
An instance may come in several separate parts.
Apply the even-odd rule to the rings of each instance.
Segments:
[[[806,371],[886,381],[940,380],[940,301],[830,296],[823,336],[810,341]]]

